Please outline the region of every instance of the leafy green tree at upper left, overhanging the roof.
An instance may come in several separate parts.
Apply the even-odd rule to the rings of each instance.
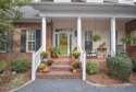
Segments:
[[[15,34],[13,23],[23,18],[20,8],[29,0],[0,0],[0,50],[11,51],[9,44],[14,44]]]

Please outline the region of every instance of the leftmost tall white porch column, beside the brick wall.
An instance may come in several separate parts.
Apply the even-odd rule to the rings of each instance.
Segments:
[[[47,37],[47,20],[46,18],[42,18],[42,33],[41,33],[41,45],[44,46],[44,50],[46,50],[46,45],[47,45],[47,42],[46,42],[46,37]]]

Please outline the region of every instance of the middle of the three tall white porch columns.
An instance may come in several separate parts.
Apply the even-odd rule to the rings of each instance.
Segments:
[[[82,19],[77,18],[77,47],[82,47]]]

